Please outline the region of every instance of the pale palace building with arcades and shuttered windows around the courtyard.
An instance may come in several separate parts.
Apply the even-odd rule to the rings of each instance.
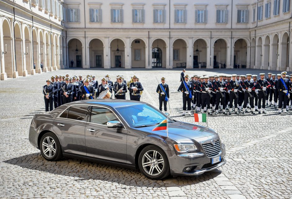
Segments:
[[[1,80],[70,67],[292,71],[290,0],[1,0],[0,22]]]

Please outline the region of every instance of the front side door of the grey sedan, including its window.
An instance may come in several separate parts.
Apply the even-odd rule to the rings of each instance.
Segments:
[[[110,109],[92,106],[85,128],[87,156],[126,163],[127,130],[107,128],[108,121],[120,121]]]

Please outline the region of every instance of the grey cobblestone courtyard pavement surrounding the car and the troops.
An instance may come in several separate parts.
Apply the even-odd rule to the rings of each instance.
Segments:
[[[141,101],[158,108],[157,79],[170,86],[171,116],[180,116],[176,92],[181,70],[58,70],[0,81],[0,198],[292,198],[292,113],[213,115],[208,124],[226,144],[227,163],[196,177],[150,180],[139,171],[75,159],[49,162],[28,140],[31,119],[44,111],[42,85],[52,75],[132,75],[144,87]],[[259,74],[263,70],[187,70],[186,74]],[[268,71],[263,71],[268,72]],[[279,73],[273,71],[274,73]],[[129,98],[129,95],[127,95]]]

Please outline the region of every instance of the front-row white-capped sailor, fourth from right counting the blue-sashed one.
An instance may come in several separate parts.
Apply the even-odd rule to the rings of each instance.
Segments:
[[[236,75],[231,75],[232,79],[229,81],[229,84],[227,85],[229,90],[229,115],[231,115],[232,107],[233,107],[233,101],[234,101],[234,107],[235,107],[235,114],[238,115],[238,95],[236,97],[236,93],[238,93],[239,90],[242,90],[242,87],[240,86],[240,82],[236,80]]]

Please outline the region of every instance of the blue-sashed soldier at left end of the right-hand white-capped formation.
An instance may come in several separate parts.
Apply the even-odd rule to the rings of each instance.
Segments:
[[[191,115],[191,101],[192,101],[192,93],[193,87],[192,83],[189,82],[189,75],[185,75],[185,81],[181,82],[179,87],[180,92],[183,93],[183,115],[186,111],[186,104],[188,104],[188,115]]]

